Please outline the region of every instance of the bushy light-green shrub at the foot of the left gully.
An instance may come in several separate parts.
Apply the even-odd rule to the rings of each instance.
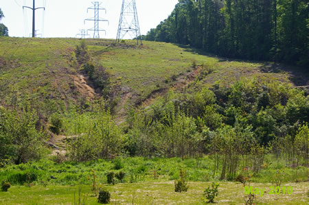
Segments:
[[[104,103],[95,107],[95,114],[73,112],[70,134],[78,135],[68,143],[69,158],[82,162],[108,158],[124,147],[125,136],[115,124]]]

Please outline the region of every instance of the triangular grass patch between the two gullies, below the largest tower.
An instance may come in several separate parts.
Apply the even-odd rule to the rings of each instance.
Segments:
[[[126,45],[133,46],[133,42],[127,40],[119,47],[91,45],[89,49],[115,77],[122,77],[124,86],[141,97],[157,89],[158,82],[164,84],[165,77],[185,73],[193,60],[198,64],[218,62],[217,58],[197,55],[170,43],[144,42],[144,47],[124,49]]]

